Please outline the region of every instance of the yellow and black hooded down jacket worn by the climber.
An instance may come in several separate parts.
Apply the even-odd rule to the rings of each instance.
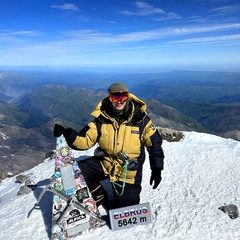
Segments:
[[[149,152],[151,169],[163,169],[164,154],[162,138],[146,113],[146,104],[130,93],[128,105],[127,117],[119,125],[112,116],[111,102],[108,98],[103,99],[91,114],[95,119],[79,133],[73,130],[68,142],[79,150],[89,149],[98,143],[104,153],[99,160],[110,181],[134,184],[141,182],[145,147]],[[129,157],[124,179],[125,162],[119,157],[119,152]]]

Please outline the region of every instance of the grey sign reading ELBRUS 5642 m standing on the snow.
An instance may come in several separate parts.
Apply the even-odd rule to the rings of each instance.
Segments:
[[[149,203],[137,204],[109,211],[112,231],[147,225],[152,222]]]

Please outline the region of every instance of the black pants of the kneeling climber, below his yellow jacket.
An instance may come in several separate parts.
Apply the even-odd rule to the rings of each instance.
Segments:
[[[78,162],[78,165],[90,189],[91,189],[90,185],[96,185],[96,183],[99,183],[100,181],[108,178],[105,176],[102,169],[102,165],[97,157],[93,156],[84,160],[80,160]],[[114,187],[112,188],[114,196],[113,208],[139,204],[140,192],[142,189],[141,171],[140,174],[138,175],[139,175],[138,181],[135,184],[125,183],[123,193],[121,186],[119,186],[122,185],[123,183],[122,182],[116,182],[116,184],[113,183],[114,184]]]

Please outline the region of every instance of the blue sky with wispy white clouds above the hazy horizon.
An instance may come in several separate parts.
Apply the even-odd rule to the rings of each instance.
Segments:
[[[0,65],[240,70],[238,0],[0,0]]]

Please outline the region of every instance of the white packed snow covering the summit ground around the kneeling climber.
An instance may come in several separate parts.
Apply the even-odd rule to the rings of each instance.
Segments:
[[[141,203],[150,202],[153,222],[112,231],[103,226],[73,239],[84,240],[236,240],[240,217],[231,219],[218,208],[240,206],[240,142],[210,134],[184,132],[180,142],[163,142],[165,169],[160,186],[149,185],[148,159],[144,164]],[[90,156],[94,149],[75,152]],[[39,209],[33,209],[54,171],[54,160],[26,171],[38,183],[29,194],[17,196],[22,184],[8,178],[0,184],[0,239],[49,239],[52,193],[47,192]],[[104,214],[104,209],[100,208]]]

